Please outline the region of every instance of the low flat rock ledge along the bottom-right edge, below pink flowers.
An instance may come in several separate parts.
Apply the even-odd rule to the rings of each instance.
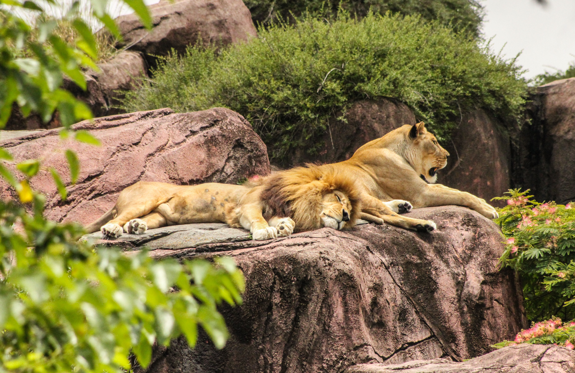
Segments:
[[[575,351],[556,345],[519,344],[457,363],[447,359],[403,364],[359,364],[345,373],[572,373]]]

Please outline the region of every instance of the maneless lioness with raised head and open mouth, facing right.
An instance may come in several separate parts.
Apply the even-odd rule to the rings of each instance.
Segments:
[[[353,175],[360,188],[361,218],[368,221],[427,232],[436,228],[434,222],[421,223],[390,212],[382,201],[393,198],[407,199],[415,208],[459,205],[490,219],[498,217],[484,199],[434,184],[436,171],[446,166],[448,155],[420,122],[394,129],[357,149],[350,159],[329,166]]]

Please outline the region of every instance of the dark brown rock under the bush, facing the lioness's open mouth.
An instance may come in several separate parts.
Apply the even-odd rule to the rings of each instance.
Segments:
[[[484,110],[463,116],[451,141],[443,147],[450,153],[447,166],[438,172],[438,183],[463,190],[490,201],[511,187],[509,136],[503,125]],[[503,207],[505,201],[489,202]]]

